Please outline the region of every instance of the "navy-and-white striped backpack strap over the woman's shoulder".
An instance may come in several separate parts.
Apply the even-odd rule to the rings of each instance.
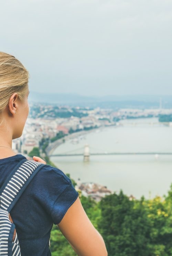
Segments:
[[[45,164],[22,160],[8,176],[0,190],[0,209],[11,211],[24,189]]]

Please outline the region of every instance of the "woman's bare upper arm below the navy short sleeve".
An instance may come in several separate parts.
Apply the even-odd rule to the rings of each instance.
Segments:
[[[89,220],[79,197],[57,225],[79,256],[107,256],[105,242]]]

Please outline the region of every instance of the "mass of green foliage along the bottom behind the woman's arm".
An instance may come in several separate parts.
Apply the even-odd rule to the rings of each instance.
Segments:
[[[172,256],[172,184],[163,198],[130,200],[121,190],[100,202],[83,195],[80,201],[103,237],[108,256]],[[76,255],[55,225],[50,248],[54,256]]]

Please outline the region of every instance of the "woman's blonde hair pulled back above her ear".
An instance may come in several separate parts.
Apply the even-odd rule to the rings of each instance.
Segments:
[[[0,52],[0,114],[13,93],[22,101],[28,92],[29,72],[14,56]]]

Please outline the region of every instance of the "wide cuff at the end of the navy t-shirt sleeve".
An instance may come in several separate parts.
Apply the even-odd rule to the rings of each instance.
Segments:
[[[78,192],[75,190],[72,182],[70,182],[65,190],[57,197],[54,202],[51,216],[54,224],[59,224],[63,219],[69,207],[75,202]]]

